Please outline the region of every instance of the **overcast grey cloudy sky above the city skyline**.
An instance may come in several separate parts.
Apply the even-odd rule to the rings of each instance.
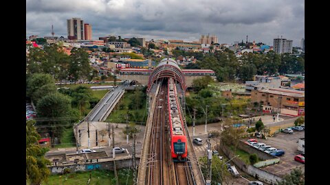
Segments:
[[[304,0],[27,0],[27,36],[67,37],[67,18],[82,18],[100,36],[273,45],[278,36],[299,46],[305,38]]]

